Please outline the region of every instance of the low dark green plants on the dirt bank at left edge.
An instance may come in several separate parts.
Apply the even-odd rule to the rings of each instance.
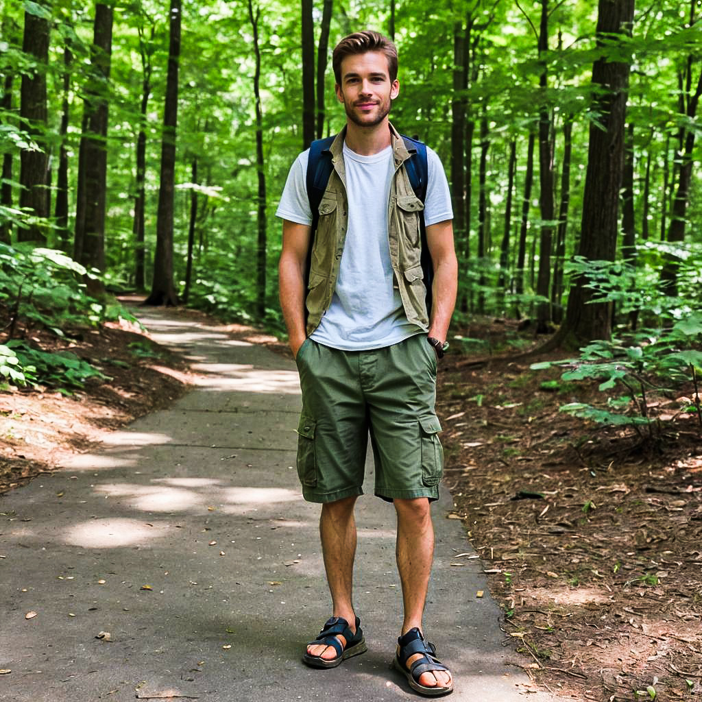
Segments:
[[[26,385],[27,383],[47,385],[64,395],[70,395],[71,392],[68,388],[71,390],[80,389],[86,380],[91,378],[110,379],[95,366],[69,351],[50,353],[35,349],[25,341],[16,339],[8,341],[6,348],[15,354],[18,364],[24,369],[25,382],[15,383],[17,385]],[[28,371],[31,375],[26,378]]]

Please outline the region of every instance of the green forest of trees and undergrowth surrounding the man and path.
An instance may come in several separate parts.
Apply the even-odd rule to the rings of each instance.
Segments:
[[[153,368],[135,388],[159,352],[117,353],[124,293],[284,348],[274,212],[297,154],[344,124],[333,47],[377,29],[399,51],[392,123],[451,185],[446,484],[505,631],[578,699],[698,694],[701,18],[700,0],[0,0],[0,424],[46,388],[114,404],[119,380],[148,396],[132,418],[183,392]],[[620,656],[604,673],[598,641]]]

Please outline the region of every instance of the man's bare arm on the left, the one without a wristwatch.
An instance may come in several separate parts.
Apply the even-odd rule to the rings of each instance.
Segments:
[[[293,356],[307,338],[305,333],[305,265],[312,227],[283,220],[283,249],[278,263],[280,306]]]

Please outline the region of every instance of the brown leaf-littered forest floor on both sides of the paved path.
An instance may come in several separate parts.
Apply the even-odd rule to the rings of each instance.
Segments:
[[[213,324],[199,312],[174,313]],[[222,328],[289,355],[260,331]],[[597,702],[702,694],[696,417],[670,414],[654,444],[588,425],[558,408],[588,399],[595,386],[542,390],[559,371],[529,370],[536,358],[510,344],[523,350],[534,340],[515,324],[485,320],[461,333],[480,339],[481,352],[451,353],[439,373],[450,516],[464,520],[505,611],[505,642],[526,654],[534,689]],[[44,350],[69,347],[100,363],[111,379],[69,397],[41,388],[0,393],[0,494],[166,406],[192,378],[184,359],[133,325],[70,341],[31,337]],[[659,411],[670,413],[668,404],[661,399]],[[456,567],[466,557],[457,555]]]

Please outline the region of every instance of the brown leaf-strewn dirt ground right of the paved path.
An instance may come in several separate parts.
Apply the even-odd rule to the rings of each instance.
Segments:
[[[700,698],[696,416],[649,398],[671,419],[661,442],[642,445],[630,429],[560,413],[602,395],[597,383],[542,390],[562,371],[530,371],[541,358],[510,353],[505,338],[529,341],[515,326],[488,323],[463,336],[492,336],[500,357],[442,363],[446,482],[505,611],[505,641],[527,654],[534,689],[603,702]]]

